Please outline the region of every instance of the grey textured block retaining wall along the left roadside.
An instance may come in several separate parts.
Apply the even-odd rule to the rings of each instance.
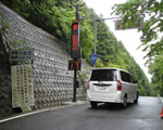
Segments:
[[[47,108],[71,102],[73,98],[74,72],[67,70],[70,52],[67,44],[42,29],[29,24],[16,13],[0,3],[0,15],[8,22],[9,31],[3,35],[3,43],[18,41],[17,48],[34,50],[33,75],[35,108]],[[83,72],[89,73],[90,66],[83,61]],[[8,67],[9,69],[9,67]],[[11,74],[3,76],[0,68],[0,115],[11,108]],[[3,80],[7,81],[3,82]],[[85,80],[79,80],[77,100],[86,100]],[[83,83],[82,83],[83,82]],[[10,92],[9,92],[10,91]],[[4,110],[3,110],[4,109]]]

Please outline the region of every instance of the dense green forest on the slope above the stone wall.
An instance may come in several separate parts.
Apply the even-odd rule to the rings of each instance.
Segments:
[[[88,9],[83,0],[0,0],[10,9],[37,27],[52,34],[71,47],[71,27],[76,17],[76,4],[79,4],[80,47],[82,55],[88,63],[93,54],[95,18],[98,16],[92,9]],[[143,70],[127,52],[121,41],[104,22],[98,22],[97,27],[97,67],[118,67],[127,69],[138,80],[139,94],[151,95],[150,83]],[[91,63],[90,63],[91,64]],[[155,93],[156,94],[156,93]]]

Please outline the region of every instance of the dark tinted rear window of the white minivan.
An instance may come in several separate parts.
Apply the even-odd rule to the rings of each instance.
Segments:
[[[90,80],[116,81],[116,69],[93,69]]]

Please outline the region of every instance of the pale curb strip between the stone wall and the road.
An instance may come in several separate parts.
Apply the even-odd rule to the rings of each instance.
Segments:
[[[34,114],[38,114],[38,113],[43,113],[43,112],[48,112],[48,110],[55,110],[55,109],[60,109],[60,108],[65,108],[65,107],[71,107],[71,106],[75,106],[75,105],[82,105],[87,103],[87,101],[77,101],[77,102],[66,102],[63,103],[63,106],[59,106],[59,107],[54,107],[54,108],[47,108],[47,109],[41,109],[41,110],[36,110],[36,112],[32,112],[32,113],[26,113],[26,114],[18,114],[18,115],[13,115],[12,117],[4,117],[3,119],[0,119],[0,123],[4,122],[4,121],[9,121],[12,119],[16,119],[16,118],[21,118],[21,117],[25,117],[25,116],[29,116],[29,115],[34,115]]]

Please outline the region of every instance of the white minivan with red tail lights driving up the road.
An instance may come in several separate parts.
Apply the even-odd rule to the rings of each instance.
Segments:
[[[92,107],[98,103],[138,102],[138,86],[131,75],[120,68],[95,68],[87,88],[87,99]]]

